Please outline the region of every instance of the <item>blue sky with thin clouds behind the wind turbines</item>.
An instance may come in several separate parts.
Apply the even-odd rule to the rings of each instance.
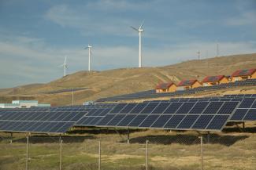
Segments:
[[[0,0],[0,88],[256,52],[255,0]]]

